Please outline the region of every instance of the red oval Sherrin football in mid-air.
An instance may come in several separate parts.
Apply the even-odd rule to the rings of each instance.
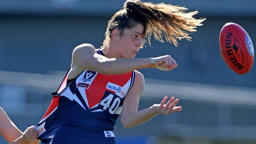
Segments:
[[[248,33],[238,24],[226,23],[219,35],[219,50],[224,62],[237,74],[252,68],[254,49]]]

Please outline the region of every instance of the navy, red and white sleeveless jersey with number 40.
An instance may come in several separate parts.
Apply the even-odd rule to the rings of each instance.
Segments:
[[[104,55],[99,49],[96,53]],[[53,100],[35,127],[39,132],[38,139],[43,144],[114,144],[114,139],[107,142],[107,138],[114,137],[113,127],[134,83],[135,72],[107,75],[84,70],[68,80],[69,70],[59,88],[52,93]]]

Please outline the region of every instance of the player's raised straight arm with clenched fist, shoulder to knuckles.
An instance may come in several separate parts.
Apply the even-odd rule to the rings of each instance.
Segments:
[[[159,65],[159,67],[156,67]],[[141,68],[163,68],[173,70],[176,62],[170,55],[156,58],[107,58],[95,53],[91,44],[81,44],[72,53],[68,79],[75,78],[83,70],[93,70],[101,74],[124,74]]]

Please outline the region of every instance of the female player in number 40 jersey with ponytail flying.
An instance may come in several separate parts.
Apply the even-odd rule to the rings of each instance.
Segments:
[[[113,127],[121,115],[122,126],[134,127],[157,114],[181,111],[171,97],[138,111],[144,77],[137,69],[173,70],[171,55],[134,58],[150,37],[177,46],[191,39],[189,33],[202,25],[197,11],[185,7],[128,0],[108,22],[100,49],[91,44],[74,48],[72,63],[37,129],[43,144],[115,144]]]

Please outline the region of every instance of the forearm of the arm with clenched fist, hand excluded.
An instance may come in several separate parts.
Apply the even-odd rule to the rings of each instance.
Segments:
[[[150,62],[150,58],[113,58],[99,61],[99,69],[103,74],[124,74],[141,68],[151,68],[155,65]]]

